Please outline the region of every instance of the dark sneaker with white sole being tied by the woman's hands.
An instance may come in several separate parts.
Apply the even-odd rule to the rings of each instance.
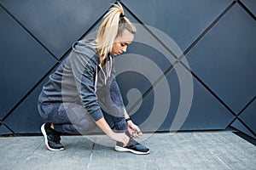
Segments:
[[[129,151],[133,154],[137,155],[146,155],[149,154],[150,150],[144,146],[143,144],[139,144],[136,140],[130,138],[129,143],[123,147],[123,144],[120,142],[117,142],[114,150],[116,151]]]

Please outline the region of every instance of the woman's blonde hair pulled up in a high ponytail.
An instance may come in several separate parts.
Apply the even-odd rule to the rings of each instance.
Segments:
[[[125,12],[120,3],[113,4],[104,16],[102,25],[99,27],[96,37],[96,48],[100,57],[106,59],[108,53],[113,48],[113,42],[116,37],[122,36],[124,30],[136,33],[135,26],[125,17]]]

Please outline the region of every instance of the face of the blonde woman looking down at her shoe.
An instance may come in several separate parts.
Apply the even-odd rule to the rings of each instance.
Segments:
[[[117,56],[126,52],[127,46],[133,41],[134,35],[130,31],[123,31],[122,36],[116,37],[113,42],[113,48],[111,54]]]

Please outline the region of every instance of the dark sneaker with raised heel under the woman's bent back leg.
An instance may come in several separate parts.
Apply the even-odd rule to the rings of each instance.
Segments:
[[[44,134],[45,146],[48,150],[59,151],[64,150],[64,146],[61,144],[61,135],[50,127],[50,123],[44,123],[41,127],[41,131]]]

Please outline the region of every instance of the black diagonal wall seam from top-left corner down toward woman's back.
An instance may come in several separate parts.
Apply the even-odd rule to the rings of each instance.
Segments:
[[[13,20],[15,20],[15,22],[16,22],[24,31],[26,31],[26,33],[28,33],[28,35],[30,35],[36,42],[38,42],[54,59],[56,59],[58,62],[60,62],[59,59],[55,56],[55,54],[53,54],[53,53],[49,50],[49,48],[47,48],[47,47],[44,45],[43,42],[40,42],[39,39],[38,39],[37,37],[35,37],[35,36],[32,34],[32,32],[29,31],[29,30],[26,28],[26,26],[24,26],[24,25],[20,22],[20,20],[18,20],[18,19],[15,17],[15,15],[11,14],[11,13],[9,12],[9,10],[8,10],[7,8],[5,8],[1,3],[0,3],[0,8],[3,8],[3,11],[4,11],[6,14],[8,14],[10,18],[12,18]]]

